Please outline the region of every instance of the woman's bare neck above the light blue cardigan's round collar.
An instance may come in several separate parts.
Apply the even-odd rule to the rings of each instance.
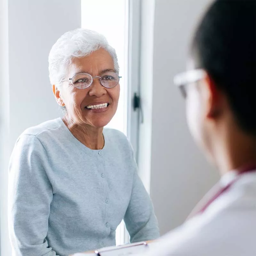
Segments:
[[[68,115],[62,118],[68,130],[87,148],[102,149],[104,147],[103,127],[97,128],[88,124],[76,124]]]

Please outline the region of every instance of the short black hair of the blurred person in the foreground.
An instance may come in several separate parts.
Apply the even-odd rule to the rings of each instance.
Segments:
[[[196,29],[191,54],[229,100],[237,124],[255,136],[256,1],[218,0]]]

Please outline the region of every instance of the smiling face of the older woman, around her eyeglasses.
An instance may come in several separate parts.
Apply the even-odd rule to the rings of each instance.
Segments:
[[[74,58],[68,68],[66,79],[72,78],[77,73],[88,73],[92,77],[101,76],[106,71],[116,72],[110,54],[101,48],[83,58]],[[76,124],[103,127],[116,113],[120,93],[119,83],[113,88],[105,88],[100,84],[99,78],[94,78],[90,87],[77,89],[69,80],[63,82],[59,93],[58,90],[55,92],[57,102],[60,105],[65,104],[68,118]],[[104,103],[108,104],[107,108],[87,108]]]

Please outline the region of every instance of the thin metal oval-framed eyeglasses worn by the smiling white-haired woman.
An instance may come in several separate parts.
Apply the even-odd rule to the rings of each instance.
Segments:
[[[106,72],[102,74],[102,76],[94,76],[92,77],[90,74],[87,73],[78,73],[72,78],[61,80],[63,81],[71,81],[71,83],[77,88],[77,89],[86,89],[90,87],[93,83],[94,78],[100,79],[100,84],[106,88],[113,88],[119,83],[119,79],[122,76],[119,76],[115,72]]]

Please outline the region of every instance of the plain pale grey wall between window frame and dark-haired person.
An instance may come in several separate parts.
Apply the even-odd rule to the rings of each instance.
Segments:
[[[150,195],[161,234],[180,225],[218,179],[194,145],[185,101],[172,83],[185,70],[190,36],[210,2],[155,1]]]

